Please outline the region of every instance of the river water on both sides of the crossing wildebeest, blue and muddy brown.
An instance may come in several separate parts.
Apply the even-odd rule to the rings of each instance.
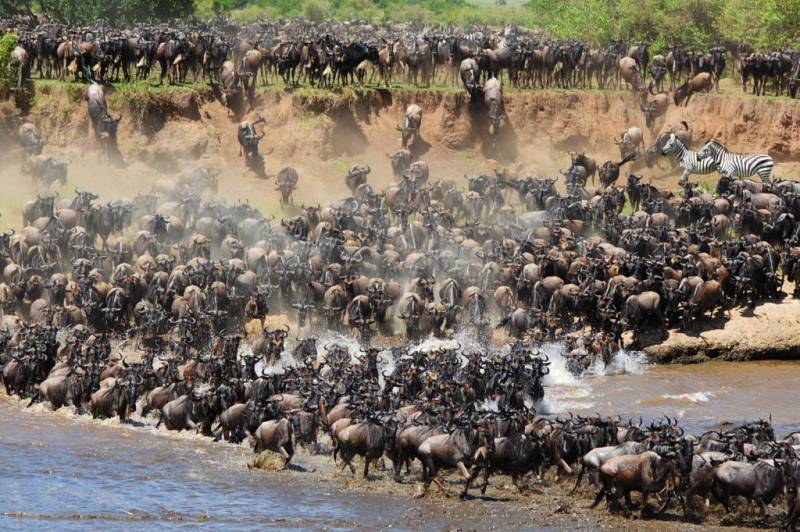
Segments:
[[[636,354],[570,376],[553,351],[541,409],[564,415],[677,416],[694,432],[772,415],[780,436],[800,430],[800,363],[648,366]],[[442,505],[368,484],[343,489],[330,458],[298,455],[293,471],[252,472],[244,446],[156,430],[152,420],[97,422],[0,395],[0,529],[542,528],[521,505]],[[320,474],[320,468],[327,468]],[[405,492],[408,493],[405,493]],[[591,525],[589,525],[591,527]]]

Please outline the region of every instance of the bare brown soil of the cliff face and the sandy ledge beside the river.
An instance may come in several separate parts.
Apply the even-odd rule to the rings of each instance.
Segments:
[[[347,196],[344,174],[355,162],[371,166],[369,181],[374,186],[391,183],[386,154],[400,148],[395,126],[411,102],[423,108],[417,156],[429,163],[432,179],[459,183],[465,173],[498,166],[553,175],[568,166],[568,150],[586,151],[598,161],[617,159],[614,138],[629,126],[643,125],[638,101],[629,93],[512,91],[506,95],[508,127],[500,148],[490,152],[482,134],[488,129],[485,110],[475,108],[465,94],[454,91],[371,90],[343,96],[264,90],[254,108],[240,117],[233,116],[210,91],[134,96],[110,92],[112,114],[123,116],[118,137],[124,165],[113,165],[99,157],[82,87],[37,89],[27,119],[38,124],[47,137],[45,153],[71,161],[68,186],[59,190],[62,195],[77,187],[100,193],[101,201],[130,197],[150,190],[156,179],[202,164],[222,171],[219,194],[227,201],[247,200],[276,216],[281,211],[274,185],[257,179],[239,157],[236,127],[242,118],[263,116],[267,120],[267,136],[262,142],[267,172],[275,175],[285,165],[298,170],[297,204]],[[20,119],[13,105],[0,104],[0,141],[15,144]],[[776,175],[800,179],[800,103],[796,101],[742,96],[735,87],[721,95],[698,95],[686,108],[672,106],[657,130],[646,132],[646,143],[681,120],[693,128],[696,145],[716,137],[732,150],[766,151],[777,161]],[[33,195],[29,178],[21,177],[19,168],[18,151],[5,150],[0,155],[4,190],[0,226],[4,228],[19,228],[21,206]],[[665,170],[640,173],[659,186],[675,188],[677,172]],[[713,176],[708,179],[713,185]],[[722,328],[699,335],[673,332],[666,341],[645,339],[643,343],[660,344],[647,348],[659,361],[750,358],[767,353],[788,356],[800,352],[800,340],[788,332],[798,316],[797,303],[785,301],[758,307],[755,317],[735,311],[727,323],[710,324]],[[770,327],[762,327],[762,323]],[[757,328],[767,336],[741,334]]]

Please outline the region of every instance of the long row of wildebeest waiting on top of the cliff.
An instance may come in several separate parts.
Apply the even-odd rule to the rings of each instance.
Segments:
[[[330,87],[389,85],[398,76],[414,84],[457,83],[474,89],[480,78],[505,74],[515,87],[619,88],[634,78],[650,78],[662,91],[695,80],[708,90],[719,88],[727,59],[736,66],[742,89],[752,82],[764,94],[768,82],[775,94],[796,95],[800,55],[793,49],[756,52],[744,42],[690,50],[675,42],[654,54],[646,41],[613,41],[592,47],[577,39],[557,40],[540,32],[508,26],[464,28],[415,27],[405,23],[376,26],[359,21],[325,23],[237,23],[215,20],[171,24],[136,24],[119,29],[104,23],[71,27],[30,19],[7,19],[0,29],[19,34],[15,52],[19,83],[36,73],[87,81],[147,79],[159,66],[163,83],[208,80],[227,97],[280,79],[287,86],[300,81]],[[473,74],[477,76],[473,77]]]

